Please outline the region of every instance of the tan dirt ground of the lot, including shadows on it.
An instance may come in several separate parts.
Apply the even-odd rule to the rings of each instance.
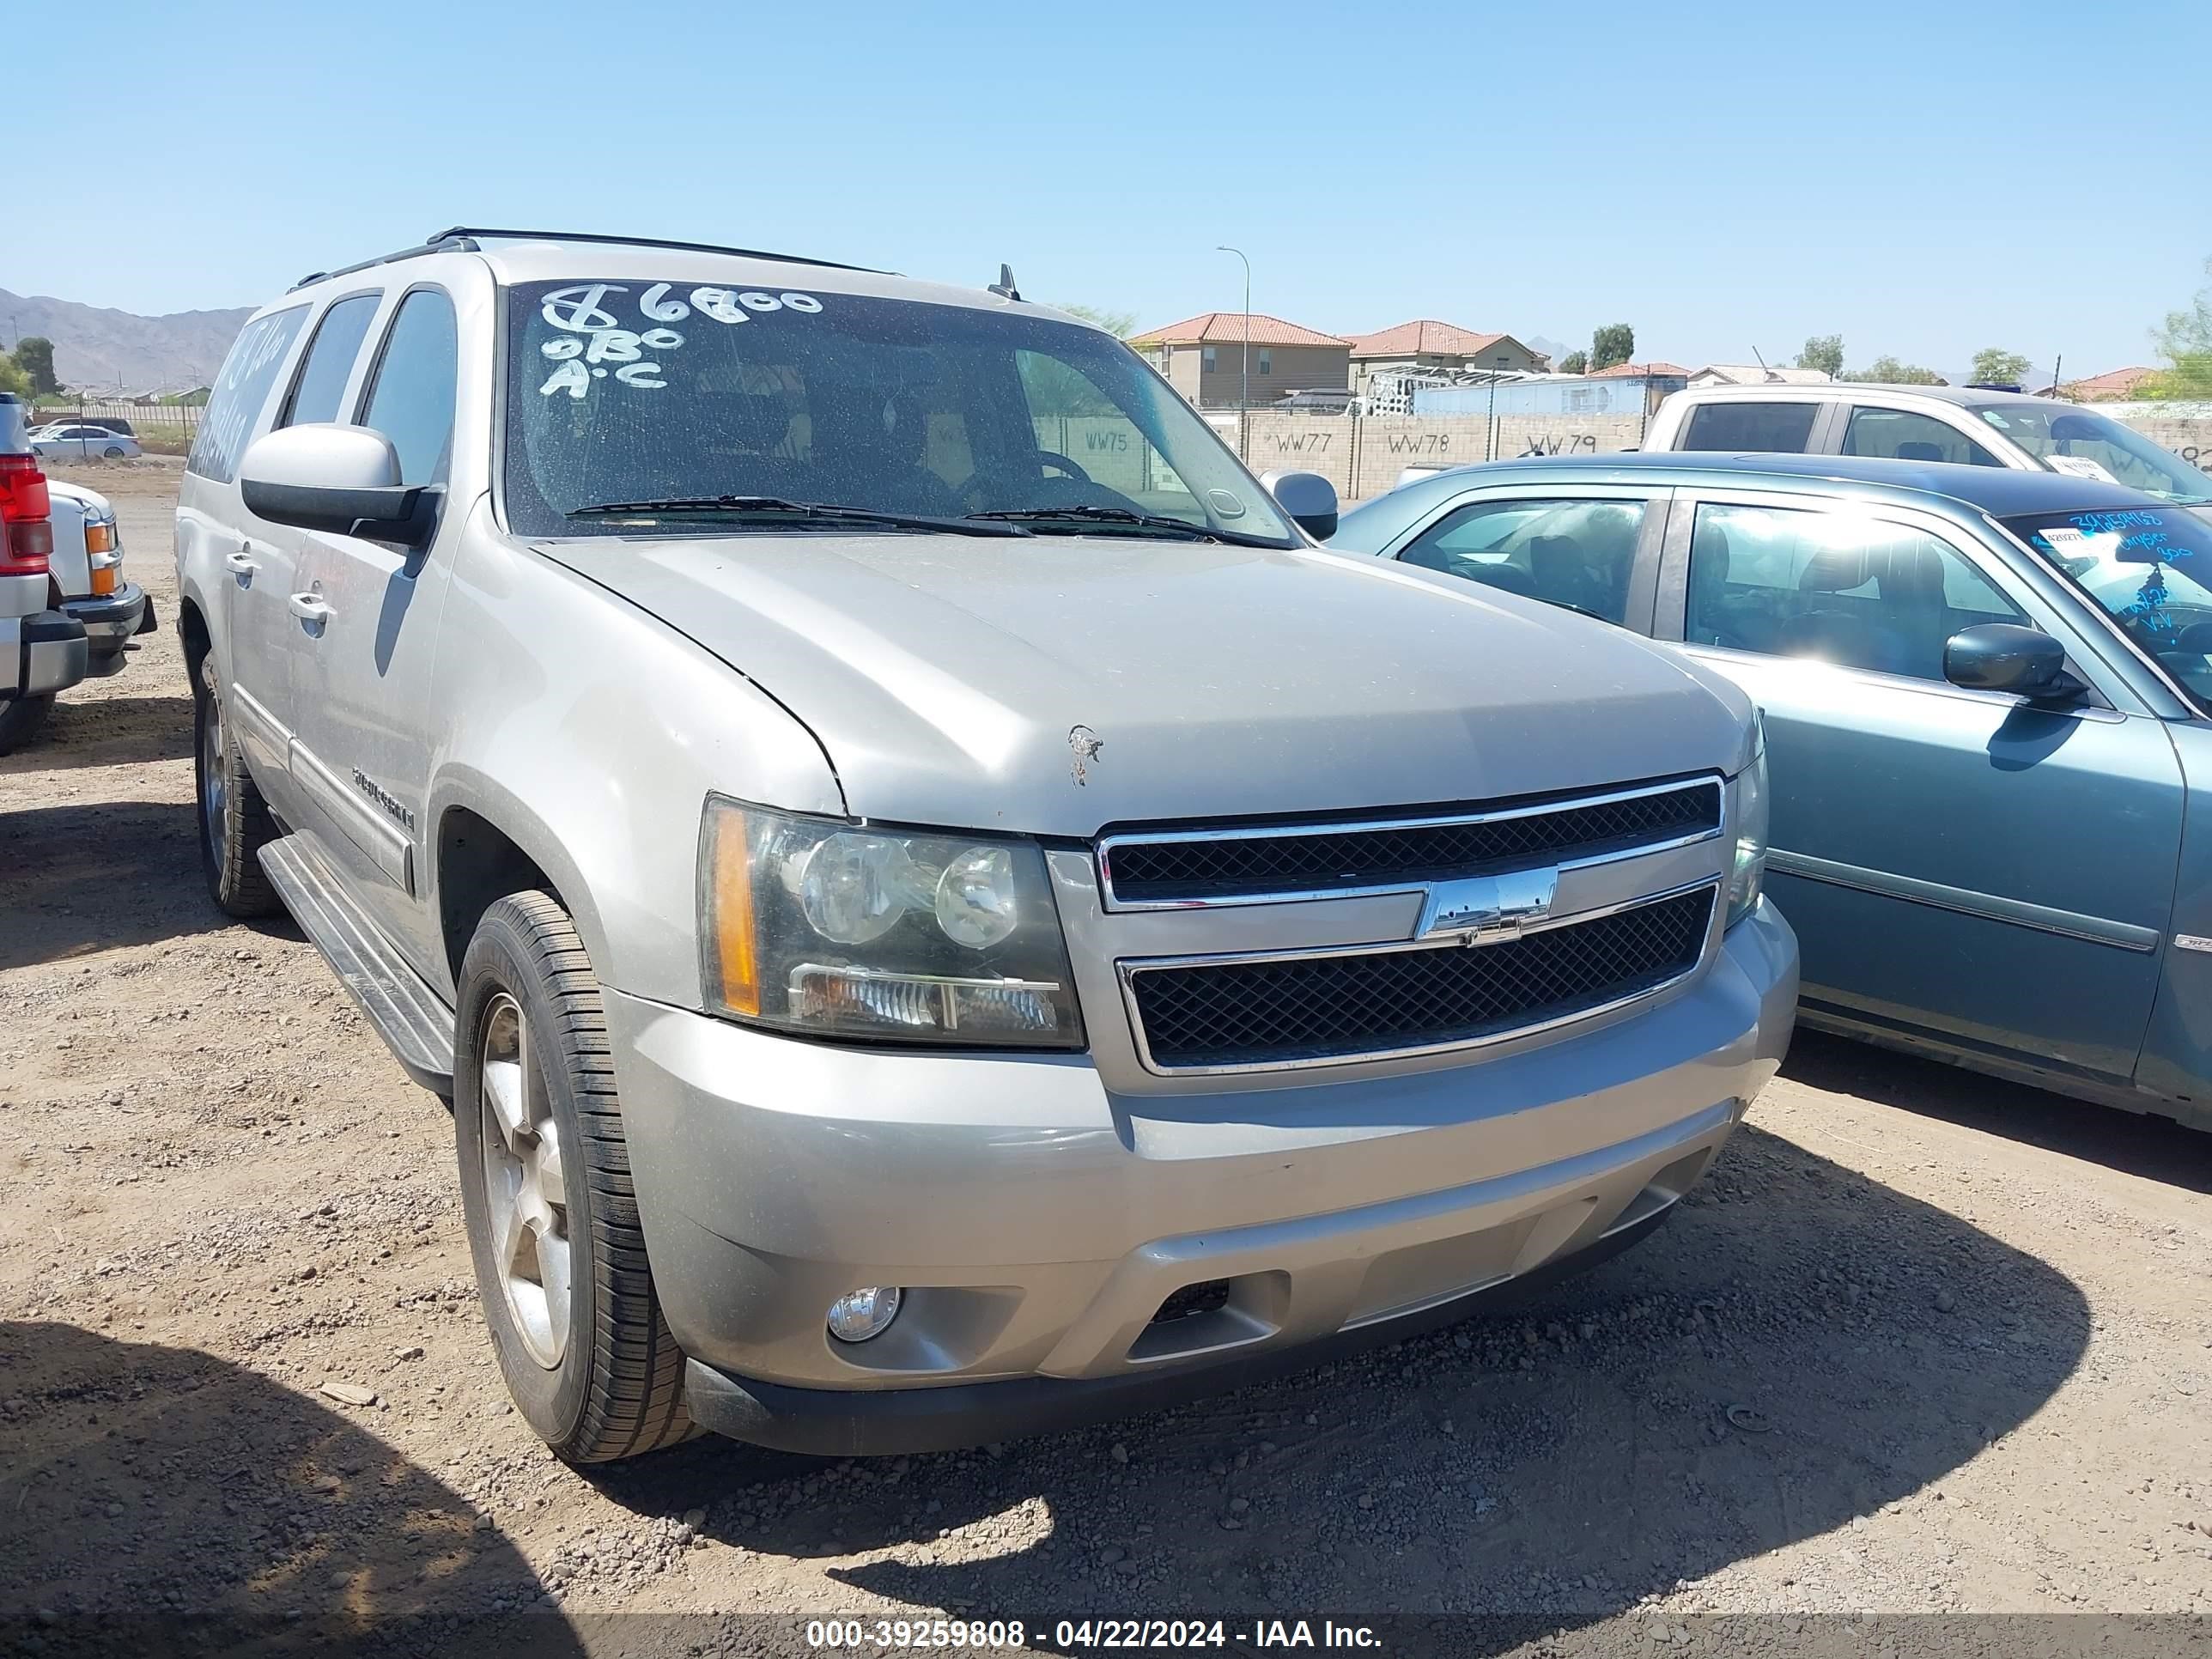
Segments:
[[[296,929],[201,891],[175,476],[82,469],[164,628],[0,761],[0,1648],[480,1650],[522,1608],[535,1652],[796,1628],[619,1613],[2203,1632],[2212,1137],[1818,1037],[1672,1225],[1524,1307],[962,1455],[560,1467],[487,1354],[445,1108]]]

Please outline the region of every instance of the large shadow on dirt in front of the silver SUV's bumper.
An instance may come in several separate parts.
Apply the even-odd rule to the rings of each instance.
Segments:
[[[2053,1267],[1745,1128],[1637,1250],[1307,1376],[995,1453],[701,1440],[599,1480],[750,1551],[894,1548],[832,1575],[916,1608],[1482,1613],[1513,1646],[1940,1482],[2086,1343]],[[993,1542],[1022,1504],[1048,1542]]]

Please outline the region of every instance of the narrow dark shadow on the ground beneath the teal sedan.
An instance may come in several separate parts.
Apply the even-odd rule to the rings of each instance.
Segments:
[[[2121,1175],[2212,1192],[2212,1135],[2183,1128],[2170,1117],[2093,1106],[1803,1026],[1790,1044],[1783,1075],[1807,1088],[1938,1117],[2022,1146],[2088,1159]]]

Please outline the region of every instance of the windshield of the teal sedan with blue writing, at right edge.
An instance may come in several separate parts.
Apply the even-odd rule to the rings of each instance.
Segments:
[[[2212,524],[2152,507],[2004,524],[2110,613],[2199,712],[2212,712]]]

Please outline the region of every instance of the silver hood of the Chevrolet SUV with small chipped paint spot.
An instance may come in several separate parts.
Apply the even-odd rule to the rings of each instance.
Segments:
[[[1486,801],[1732,770],[1750,719],[1725,681],[1619,628],[1307,549],[898,533],[538,546],[790,708],[860,818],[1093,836]]]

